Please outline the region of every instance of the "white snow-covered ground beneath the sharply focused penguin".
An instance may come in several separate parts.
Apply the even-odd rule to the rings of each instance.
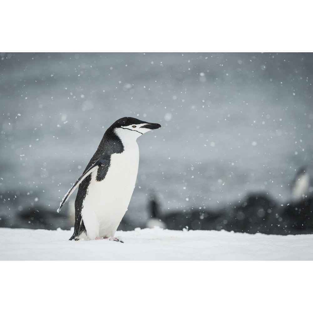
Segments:
[[[0,228],[0,260],[312,260],[313,235],[136,228],[109,240],[69,241],[72,231]]]

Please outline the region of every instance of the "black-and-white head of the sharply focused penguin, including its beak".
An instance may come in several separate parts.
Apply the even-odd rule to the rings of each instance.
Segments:
[[[134,136],[138,138],[147,131],[160,128],[161,125],[141,121],[134,117],[122,117],[115,121],[111,127],[114,129],[115,133],[118,133],[119,137]]]

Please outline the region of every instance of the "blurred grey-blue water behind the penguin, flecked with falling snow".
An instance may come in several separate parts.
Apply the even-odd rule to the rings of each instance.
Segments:
[[[1,53],[1,226],[56,212],[123,116],[162,125],[137,141],[135,223],[151,193],[163,212],[288,202],[295,172],[313,174],[312,74],[311,53]]]

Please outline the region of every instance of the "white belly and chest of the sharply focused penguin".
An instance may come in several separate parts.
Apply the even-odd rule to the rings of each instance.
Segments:
[[[136,143],[122,153],[110,156],[110,166],[103,179],[98,175],[100,168],[91,173],[81,211],[90,239],[114,236],[131,200],[138,164]]]

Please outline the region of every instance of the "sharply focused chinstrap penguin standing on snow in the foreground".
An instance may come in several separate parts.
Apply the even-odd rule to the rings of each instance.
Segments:
[[[160,128],[157,123],[123,117],[115,121],[100,141],[83,174],[65,194],[58,212],[78,187],[74,233],[69,240],[110,239],[120,224],[135,188],[142,134]]]

